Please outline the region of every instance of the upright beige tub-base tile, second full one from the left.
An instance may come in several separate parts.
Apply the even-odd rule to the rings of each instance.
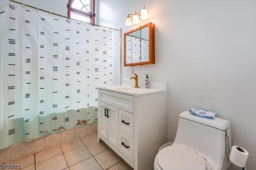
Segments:
[[[26,156],[44,150],[44,137],[27,142]]]

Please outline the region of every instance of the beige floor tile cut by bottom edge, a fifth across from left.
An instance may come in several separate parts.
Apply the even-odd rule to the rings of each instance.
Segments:
[[[36,170],[63,170],[67,167],[63,154],[36,163]]]

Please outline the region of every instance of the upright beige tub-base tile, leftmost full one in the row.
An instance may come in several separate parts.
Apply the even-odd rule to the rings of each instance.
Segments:
[[[26,142],[21,142],[6,148],[4,151],[4,162],[10,162],[26,156]]]

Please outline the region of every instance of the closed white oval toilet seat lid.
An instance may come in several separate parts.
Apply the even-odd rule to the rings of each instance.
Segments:
[[[206,161],[184,146],[168,146],[158,152],[156,161],[162,170],[206,170]]]

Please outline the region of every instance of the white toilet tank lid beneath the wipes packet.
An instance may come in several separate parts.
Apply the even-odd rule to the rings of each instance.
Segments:
[[[225,119],[221,119],[219,117],[214,117],[213,119],[206,119],[191,115],[189,111],[184,111],[180,113],[180,118],[188,119],[190,121],[201,123],[203,125],[214,127],[220,130],[227,130],[230,127],[230,121],[227,121]]]

